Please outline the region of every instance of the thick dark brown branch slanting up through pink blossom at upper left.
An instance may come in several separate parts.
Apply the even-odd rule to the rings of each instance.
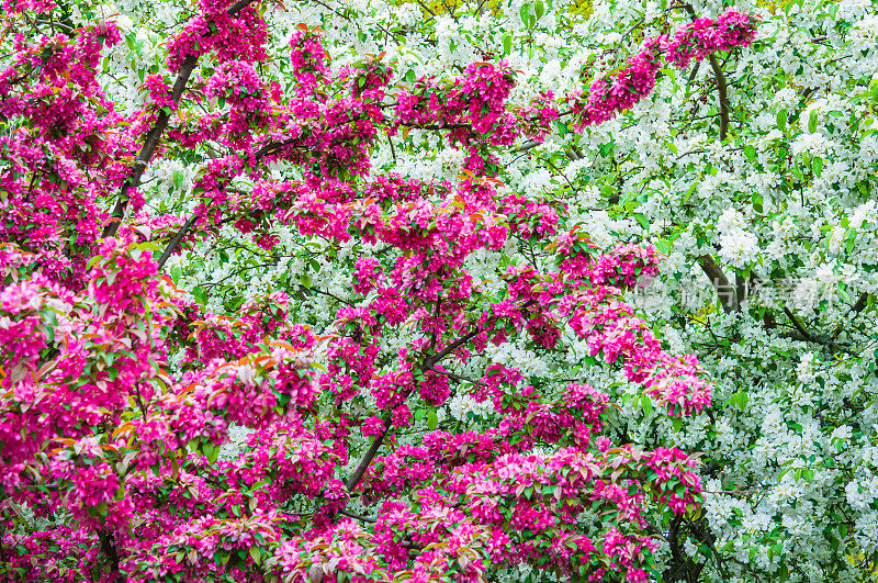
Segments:
[[[226,11],[226,13],[229,16],[234,16],[247,8],[252,1],[254,0],[238,0]],[[177,79],[173,81],[173,88],[171,89],[171,101],[175,103],[180,102],[180,98],[183,96],[183,91],[185,91],[185,86],[189,82],[192,71],[195,69],[198,61],[199,55],[189,55],[180,66],[180,71],[177,74]],[[162,108],[161,111],[159,111],[153,128],[146,134],[146,141],[144,142],[143,148],[140,148],[140,153],[137,155],[137,158],[134,160],[134,168],[132,169],[131,176],[125,180],[125,183],[122,184],[122,189],[119,191],[116,204],[112,211],[112,217],[110,218],[110,223],[104,227],[102,236],[114,237],[119,231],[119,225],[122,223],[122,218],[125,216],[125,210],[127,209],[128,201],[131,200],[128,192],[140,184],[140,179],[144,176],[144,171],[146,171],[146,166],[153,158],[153,154],[155,154],[156,147],[158,146],[165,130],[168,128],[169,121],[170,115]]]

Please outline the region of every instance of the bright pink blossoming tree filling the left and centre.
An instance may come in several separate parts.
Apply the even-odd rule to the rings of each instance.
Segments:
[[[98,81],[115,24],[15,32],[53,10],[20,3],[1,25],[15,36],[0,70],[8,578],[656,575],[661,532],[701,503],[695,459],[608,434],[617,394],[529,377],[515,360],[477,363],[514,343],[582,346],[577,365],[615,368],[641,406],[675,422],[710,407],[710,383],[624,300],[658,272],[655,247],[598,248],[563,204],[506,188],[498,153],[547,139],[562,116],[579,131],[612,119],[650,94],[663,64],[748,46],[753,18],[697,19],[575,94],[516,108],[505,60],[405,80],[383,55],[334,67],[322,29],[304,24],[279,83],[258,4],[201,1],[126,113]],[[374,170],[375,144],[409,131],[460,150],[464,173]],[[140,167],[175,156],[202,167],[183,218],[147,204],[140,182]],[[278,178],[280,167],[295,171]],[[221,229],[267,257],[279,233],[381,250],[334,251],[352,300],[330,322],[297,307],[318,293],[312,282],[222,311],[166,269]],[[518,244],[553,267],[505,265],[488,293],[471,258]],[[455,399],[482,417],[450,419]],[[20,528],[25,514],[55,526]]]

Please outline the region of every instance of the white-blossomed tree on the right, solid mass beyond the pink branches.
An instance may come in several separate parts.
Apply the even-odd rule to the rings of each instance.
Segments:
[[[668,256],[639,290],[653,293],[629,299],[698,355],[714,403],[676,426],[621,406],[638,440],[705,451],[705,512],[678,522],[690,541],[668,537],[666,552],[706,568],[680,576],[859,581],[878,551],[875,4],[759,4],[738,3],[762,18],[752,49],[663,70],[650,99],[534,146],[542,170],[508,182],[577,198],[599,245],[645,239]],[[608,32],[610,48],[664,19],[651,3],[596,3],[579,31]],[[581,53],[565,51],[534,87],[574,82]]]

